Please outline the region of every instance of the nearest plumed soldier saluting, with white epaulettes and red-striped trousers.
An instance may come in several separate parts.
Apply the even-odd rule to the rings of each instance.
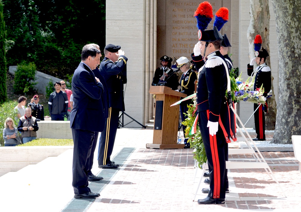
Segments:
[[[204,12],[206,12],[206,20],[203,19]],[[211,19],[208,18],[208,14]],[[219,30],[216,26],[213,30],[205,30],[213,18],[210,3],[201,3],[194,16],[197,18],[199,29],[201,55],[207,58],[204,66],[199,69],[197,111],[210,179],[208,196],[197,202],[198,204],[224,204],[225,177],[227,177],[225,145],[228,141],[228,133],[225,129],[230,128],[230,122],[228,113],[221,108],[222,105],[227,106],[225,94],[229,87],[228,67],[225,58],[219,52],[223,40]]]

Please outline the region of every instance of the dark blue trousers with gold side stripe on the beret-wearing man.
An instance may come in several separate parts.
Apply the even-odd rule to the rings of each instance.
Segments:
[[[98,146],[98,165],[111,163],[111,154],[115,142],[118,128],[119,109],[109,108],[109,117],[104,126],[104,131],[100,134]]]

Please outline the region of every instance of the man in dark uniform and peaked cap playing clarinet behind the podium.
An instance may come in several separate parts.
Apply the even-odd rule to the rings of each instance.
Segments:
[[[152,85],[164,85],[172,90],[177,90],[179,86],[178,78],[169,66],[171,65],[172,58],[164,55],[160,60],[161,67],[156,69]]]

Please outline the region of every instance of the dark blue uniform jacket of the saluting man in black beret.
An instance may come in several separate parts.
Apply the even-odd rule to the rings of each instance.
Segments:
[[[128,59],[124,55],[120,55],[118,61],[114,63],[112,60],[104,57],[100,63],[100,74],[106,80],[109,93],[109,107],[124,111],[123,100],[123,84],[126,83],[126,61]]]

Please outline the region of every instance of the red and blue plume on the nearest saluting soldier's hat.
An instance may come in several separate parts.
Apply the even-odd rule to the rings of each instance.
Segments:
[[[204,31],[213,18],[212,6],[209,2],[202,2],[194,12],[197,19],[197,28]]]

